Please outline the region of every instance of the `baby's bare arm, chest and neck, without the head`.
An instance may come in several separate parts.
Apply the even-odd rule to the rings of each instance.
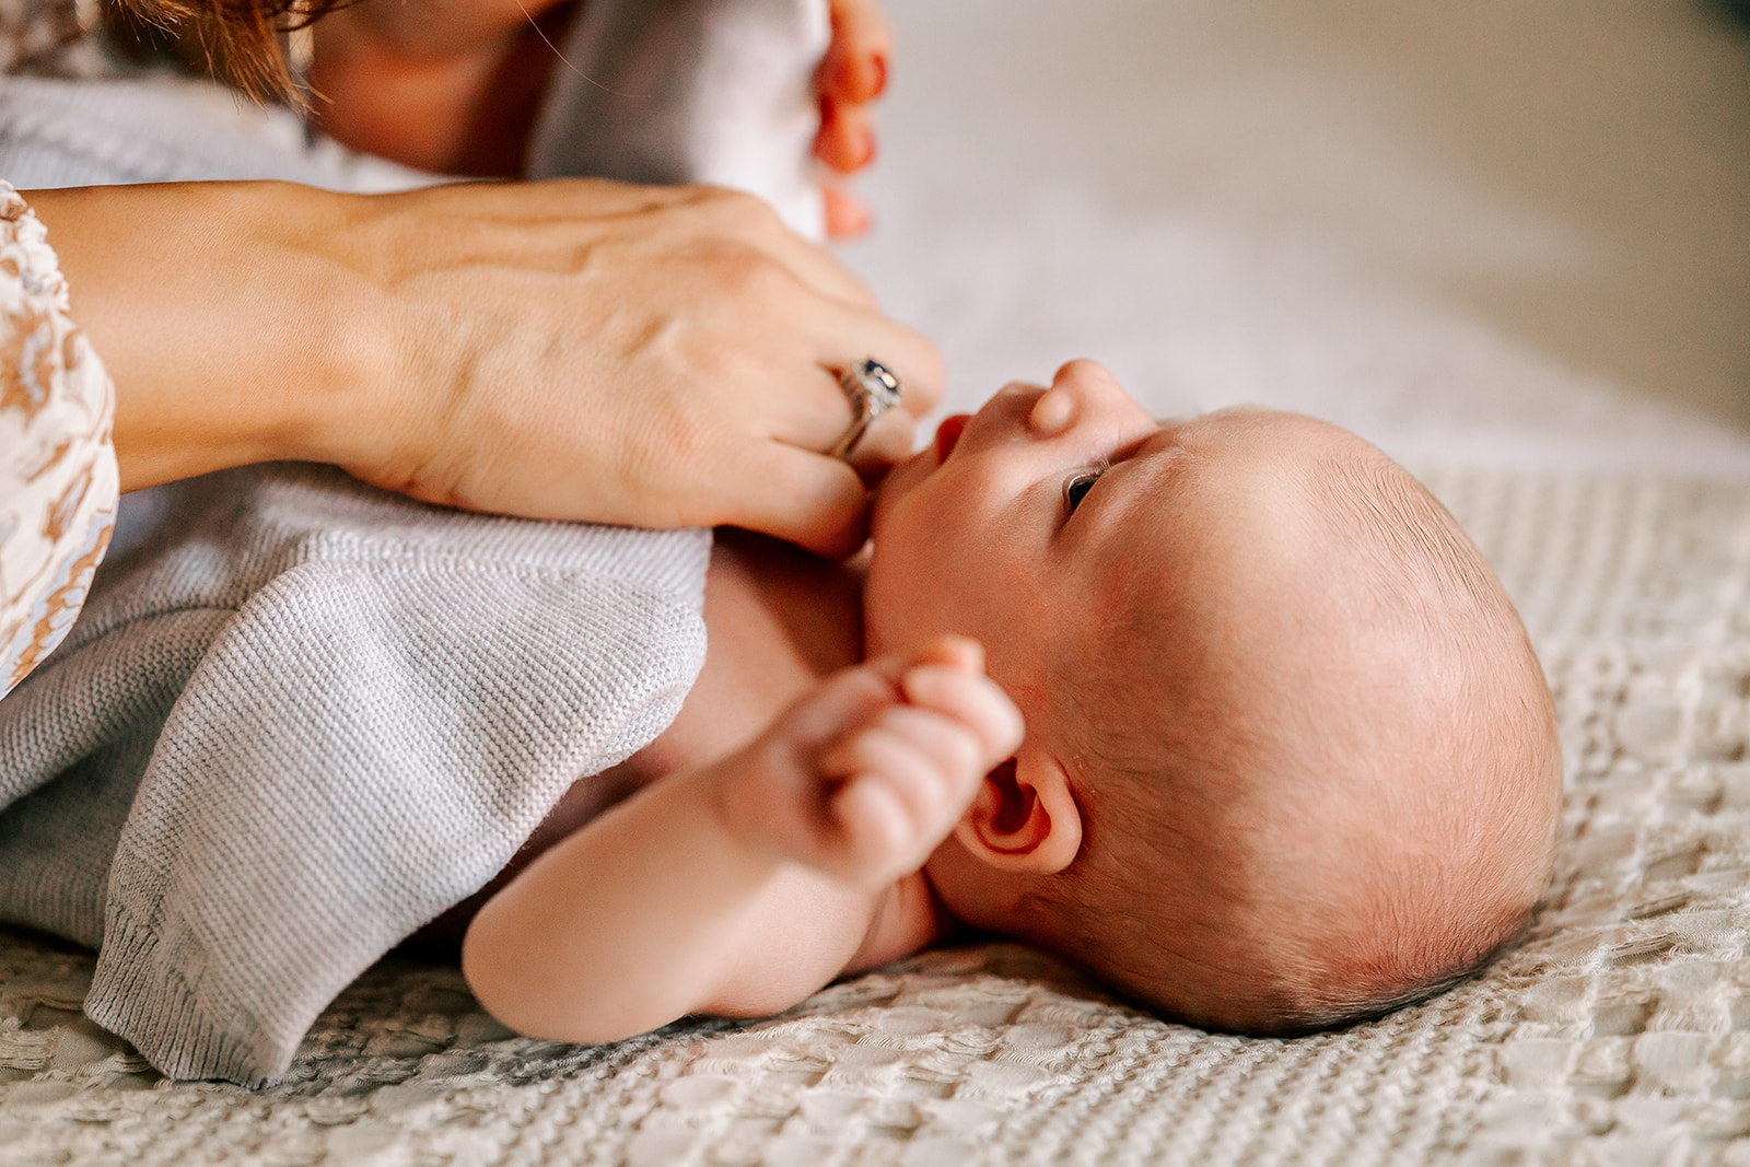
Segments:
[[[1020,716],[968,640],[847,668],[858,600],[842,565],[718,541],[700,679],[606,775],[639,794],[579,824],[600,780],[579,784],[542,826],[564,838],[469,929],[464,968],[495,1017],[572,1041],[758,1017],[952,926],[920,868]]]

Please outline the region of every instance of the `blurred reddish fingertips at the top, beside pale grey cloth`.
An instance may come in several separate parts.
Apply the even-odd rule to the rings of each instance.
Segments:
[[[814,154],[842,175],[875,161],[870,105],[887,89],[892,30],[873,0],[831,0],[833,44],[814,73],[821,98],[821,133]],[[826,233],[861,234],[870,226],[863,201],[838,184],[826,187]]]

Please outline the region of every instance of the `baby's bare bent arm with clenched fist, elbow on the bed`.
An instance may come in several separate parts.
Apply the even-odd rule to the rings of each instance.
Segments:
[[[513,1029],[564,1041],[788,1008],[845,971],[1018,742],[968,640],[835,674],[746,749],[536,859],[474,917],[469,985]]]

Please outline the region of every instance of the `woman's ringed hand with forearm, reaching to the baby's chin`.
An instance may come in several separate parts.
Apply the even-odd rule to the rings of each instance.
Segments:
[[[341,196],[170,184],[30,196],[117,387],[122,486],[270,458],[429,502],[854,549],[817,453],[835,373],[894,369],[910,448],[942,394],[917,332],[749,196],[574,180]]]

